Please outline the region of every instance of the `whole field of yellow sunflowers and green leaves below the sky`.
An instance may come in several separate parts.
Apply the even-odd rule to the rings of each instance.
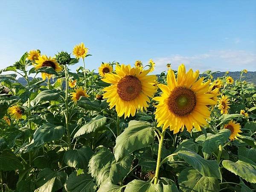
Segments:
[[[94,72],[88,50],[32,50],[0,70],[0,191],[256,191],[247,70],[235,81],[184,64],[152,75],[150,59]]]

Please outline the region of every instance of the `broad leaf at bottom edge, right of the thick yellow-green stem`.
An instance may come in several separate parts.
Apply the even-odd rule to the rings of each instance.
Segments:
[[[203,176],[192,168],[184,169],[178,182],[182,192],[218,192],[220,189],[217,178]]]

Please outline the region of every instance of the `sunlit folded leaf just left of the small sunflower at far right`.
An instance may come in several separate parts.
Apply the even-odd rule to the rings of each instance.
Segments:
[[[228,140],[230,134],[230,130],[222,129],[218,134],[207,137],[204,143],[202,143],[204,158],[208,159],[212,152],[218,149],[219,145],[223,145],[224,142]]]

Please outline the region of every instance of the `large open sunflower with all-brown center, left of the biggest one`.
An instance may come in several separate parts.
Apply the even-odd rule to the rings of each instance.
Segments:
[[[156,76],[147,76],[149,71],[122,64],[116,65],[116,74],[105,74],[102,81],[111,85],[103,89],[103,99],[107,98],[110,108],[116,106],[118,116],[134,116],[137,110],[148,107],[149,97],[157,91],[153,85]]]

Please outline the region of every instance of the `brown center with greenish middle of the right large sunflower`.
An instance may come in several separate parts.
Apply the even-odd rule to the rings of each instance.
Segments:
[[[189,115],[195,108],[195,93],[187,87],[176,87],[168,98],[168,108],[176,116]]]

